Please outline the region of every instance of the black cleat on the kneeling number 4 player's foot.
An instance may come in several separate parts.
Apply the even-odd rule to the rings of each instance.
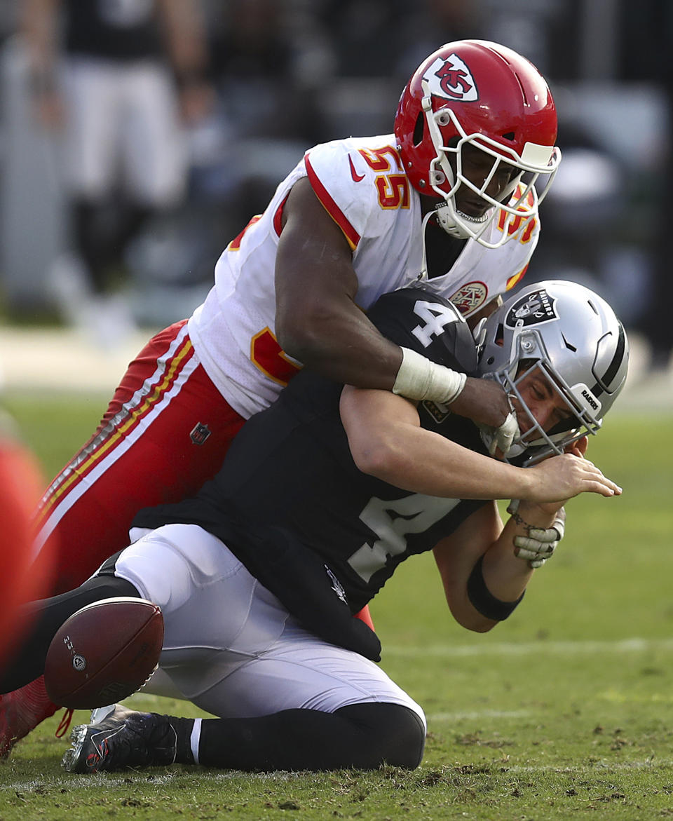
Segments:
[[[126,767],[172,764],[176,731],[167,716],[137,713],[121,704],[94,710],[93,723],[71,732],[71,749],[62,766],[69,773],[98,773]]]

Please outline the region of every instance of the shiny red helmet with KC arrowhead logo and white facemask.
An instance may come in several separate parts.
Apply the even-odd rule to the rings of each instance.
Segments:
[[[547,83],[520,54],[486,40],[448,43],[421,63],[402,92],[395,135],[411,185],[443,200],[437,221],[452,236],[471,237],[488,248],[520,236],[561,162]],[[463,173],[462,149],[468,144],[492,157],[480,185]],[[501,163],[515,171],[497,201],[487,188]],[[547,180],[538,192],[533,186],[541,174]],[[479,218],[460,211],[455,199],[460,186],[492,208]],[[501,212],[499,231],[488,231]]]

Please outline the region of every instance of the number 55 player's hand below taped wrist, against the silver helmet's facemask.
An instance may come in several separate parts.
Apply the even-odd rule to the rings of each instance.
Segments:
[[[502,386],[492,379],[468,377],[465,388],[450,407],[453,413],[471,419],[488,433],[488,438],[492,437],[489,447],[491,455],[496,448],[506,453],[515,438],[519,437],[519,425],[510,400]]]

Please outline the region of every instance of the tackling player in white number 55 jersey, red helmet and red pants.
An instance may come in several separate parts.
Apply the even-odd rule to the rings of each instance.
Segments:
[[[58,539],[58,593],[124,547],[135,512],[192,495],[245,419],[305,366],[435,401],[518,433],[506,392],[389,342],[366,311],[422,281],[468,318],[523,276],[560,153],[547,83],[509,48],[463,40],[419,66],[394,133],[309,150],[227,246],[189,320],[126,371],[98,430],[48,488],[38,549]],[[536,182],[543,179],[538,190]],[[0,700],[0,754],[56,707],[36,681]]]

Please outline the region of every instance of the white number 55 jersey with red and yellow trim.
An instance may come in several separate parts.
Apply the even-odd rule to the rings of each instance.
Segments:
[[[309,149],[264,213],[217,260],[215,285],[188,330],[209,378],[240,415],[247,418],[270,405],[301,366],[277,343],[274,285],[282,209],[300,177],[309,178],[353,250],[356,302],[363,310],[382,294],[421,281],[469,316],[523,277],[538,242],[537,220],[496,249],[468,240],[443,276],[423,277],[420,198],[395,145],[388,134]],[[503,224],[504,213],[492,221],[487,239],[497,237]]]

